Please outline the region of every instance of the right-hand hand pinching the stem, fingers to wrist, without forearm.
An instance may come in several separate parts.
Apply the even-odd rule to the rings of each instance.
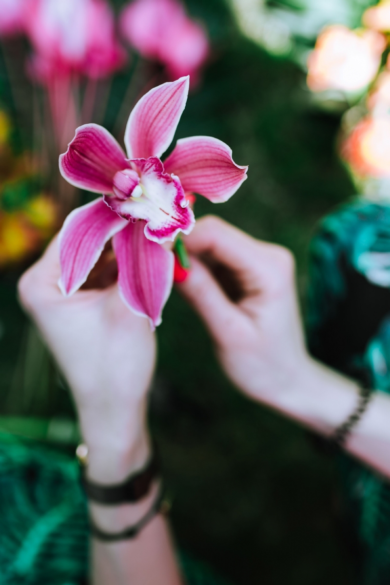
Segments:
[[[185,243],[192,270],[180,290],[205,321],[227,375],[254,398],[285,390],[309,360],[291,252],[213,216],[200,219]],[[221,266],[234,277],[235,302],[212,274]]]

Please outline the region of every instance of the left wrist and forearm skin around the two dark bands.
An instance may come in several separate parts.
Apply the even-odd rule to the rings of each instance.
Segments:
[[[111,432],[99,432],[92,424],[91,411],[80,412],[84,440],[88,445],[89,480],[98,484],[121,483],[146,464],[150,440],[144,425],[145,405],[129,409],[132,417],[117,424]],[[101,431],[101,428],[100,428]],[[153,507],[160,481],[134,504],[100,505],[89,503],[92,521],[103,532],[118,533],[140,521]],[[157,514],[133,539],[105,543],[92,538],[92,583],[94,585],[180,585],[180,572],[167,521]]]

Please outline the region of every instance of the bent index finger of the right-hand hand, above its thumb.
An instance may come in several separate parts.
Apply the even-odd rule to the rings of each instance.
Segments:
[[[196,222],[185,238],[189,253],[207,254],[225,264],[239,277],[247,294],[272,294],[294,278],[294,258],[284,247],[260,242],[215,216]]]

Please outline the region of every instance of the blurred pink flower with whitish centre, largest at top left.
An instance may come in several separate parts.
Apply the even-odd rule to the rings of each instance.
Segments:
[[[61,71],[98,79],[125,60],[105,0],[29,0],[25,23],[34,49],[30,71],[40,81]]]

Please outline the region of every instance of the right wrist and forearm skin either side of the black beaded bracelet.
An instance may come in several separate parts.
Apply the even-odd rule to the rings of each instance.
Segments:
[[[309,359],[285,392],[270,395],[267,402],[313,431],[331,436],[356,409],[356,382]],[[390,478],[390,397],[375,392],[361,420],[347,438],[351,455]]]

